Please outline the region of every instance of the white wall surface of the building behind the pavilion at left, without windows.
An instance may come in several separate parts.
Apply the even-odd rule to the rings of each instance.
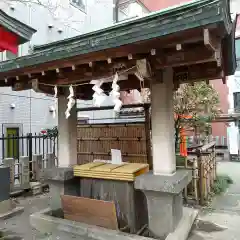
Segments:
[[[113,24],[113,0],[83,1],[86,3],[84,11],[70,4],[69,0],[46,0],[48,8],[38,4],[0,1],[0,8],[7,14],[37,30],[29,43],[19,47],[19,56],[29,54],[34,45],[74,37]],[[50,2],[51,6],[48,6]],[[99,13],[104,14],[100,16]],[[6,52],[0,55],[1,60],[8,60]],[[14,109],[11,104],[15,104]],[[0,88],[0,125],[4,124],[4,128],[22,126],[20,134],[24,135],[39,133],[57,125],[57,119],[53,119],[49,111],[53,104],[54,100],[45,94]],[[0,126],[0,134],[4,133],[2,129]]]

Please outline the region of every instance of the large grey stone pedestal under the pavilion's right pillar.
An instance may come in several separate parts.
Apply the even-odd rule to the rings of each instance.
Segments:
[[[140,175],[135,188],[144,192],[148,204],[149,229],[165,239],[175,231],[183,214],[182,191],[192,179],[192,172],[177,170],[172,176]]]

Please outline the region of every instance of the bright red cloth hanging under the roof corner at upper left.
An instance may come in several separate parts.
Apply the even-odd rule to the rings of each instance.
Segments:
[[[0,51],[10,51],[13,54],[18,53],[18,36],[8,32],[0,26]]]

